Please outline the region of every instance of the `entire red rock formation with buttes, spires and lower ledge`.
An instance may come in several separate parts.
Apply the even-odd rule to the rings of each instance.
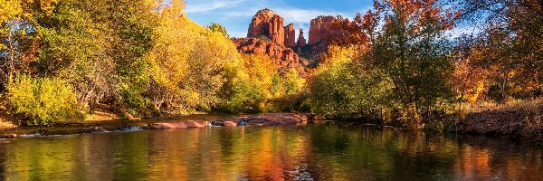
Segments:
[[[320,55],[327,52],[326,39],[333,16],[319,16],[310,23],[309,42],[300,29],[296,38],[294,24],[284,26],[284,19],[270,9],[262,9],[252,17],[247,38],[234,38],[233,42],[241,53],[263,53],[275,61],[282,72],[296,69],[300,75],[307,75],[307,69],[319,62]],[[301,59],[300,57],[303,57]]]

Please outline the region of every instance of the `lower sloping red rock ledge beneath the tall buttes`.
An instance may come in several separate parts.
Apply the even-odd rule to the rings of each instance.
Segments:
[[[267,54],[274,60],[281,72],[289,71],[291,68],[305,75],[306,62],[303,62],[291,48],[277,43],[272,43],[262,38],[234,38],[233,42],[241,53]]]

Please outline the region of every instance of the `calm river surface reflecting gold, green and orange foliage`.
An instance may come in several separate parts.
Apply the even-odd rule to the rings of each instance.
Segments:
[[[8,180],[541,180],[543,147],[354,124],[141,130],[0,144]]]

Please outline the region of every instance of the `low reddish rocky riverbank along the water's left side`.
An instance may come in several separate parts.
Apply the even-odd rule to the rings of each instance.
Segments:
[[[273,113],[254,115],[195,114],[157,119],[110,119],[71,123],[54,127],[8,127],[0,129],[0,138],[26,136],[73,135],[139,129],[190,129],[205,127],[236,127],[240,120],[244,126],[300,126],[316,121],[313,114]],[[220,121],[222,125],[213,125]]]

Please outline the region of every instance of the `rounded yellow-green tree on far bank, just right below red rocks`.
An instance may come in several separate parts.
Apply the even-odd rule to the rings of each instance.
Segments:
[[[310,81],[311,110],[330,119],[385,119],[390,81],[357,62],[356,48],[329,47]]]

